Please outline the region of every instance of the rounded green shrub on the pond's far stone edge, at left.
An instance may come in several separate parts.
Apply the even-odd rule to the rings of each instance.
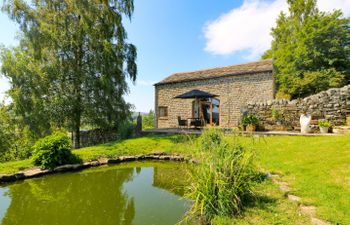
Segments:
[[[45,169],[79,163],[81,160],[71,152],[72,144],[66,134],[57,132],[39,139],[32,147],[33,162]]]

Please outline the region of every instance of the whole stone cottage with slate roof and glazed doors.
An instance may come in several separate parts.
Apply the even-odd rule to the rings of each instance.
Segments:
[[[248,102],[274,99],[272,60],[175,73],[155,85],[156,128],[200,119],[203,126],[235,127]],[[186,93],[205,93],[182,98]]]

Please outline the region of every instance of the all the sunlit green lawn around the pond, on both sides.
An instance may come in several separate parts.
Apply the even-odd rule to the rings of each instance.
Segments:
[[[232,136],[227,138],[234,139]],[[239,138],[245,144],[252,143],[253,139],[261,170],[281,174],[292,192],[302,198],[303,204],[317,206],[320,218],[335,224],[350,224],[350,135]],[[190,156],[194,145],[184,142],[182,136],[157,135],[83,148],[74,153],[84,161],[155,151]],[[30,160],[1,163],[0,174],[30,167]],[[274,185],[266,182],[261,185],[262,195],[275,200],[248,208],[243,220],[232,223],[303,223],[304,218],[298,216],[297,207],[286,202]]]

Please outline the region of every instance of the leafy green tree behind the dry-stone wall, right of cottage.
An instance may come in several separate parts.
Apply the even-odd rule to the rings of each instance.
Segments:
[[[288,0],[272,29],[273,58],[280,97],[297,98],[350,83],[349,18],[320,12],[316,0]]]

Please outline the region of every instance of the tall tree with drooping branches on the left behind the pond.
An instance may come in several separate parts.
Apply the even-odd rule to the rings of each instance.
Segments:
[[[74,131],[77,148],[82,123],[117,129],[130,113],[126,78],[137,74],[136,47],[122,23],[133,0],[12,0],[3,10],[22,32],[20,46],[2,57],[17,112],[25,118],[38,109],[36,119],[44,114],[48,125]],[[30,64],[17,63],[22,56]]]

